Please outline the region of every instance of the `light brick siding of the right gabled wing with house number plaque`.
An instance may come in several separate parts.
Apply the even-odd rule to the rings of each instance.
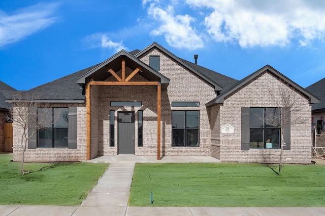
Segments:
[[[214,111],[219,111],[220,122],[213,127],[213,131],[220,130],[225,124],[234,126],[233,134],[220,134],[220,160],[232,162],[279,162],[279,149],[241,150],[241,107],[277,107],[278,105],[270,98],[270,92],[276,93],[279,83],[280,81],[273,75],[267,72],[263,73],[228,98],[225,98],[220,110]],[[291,119],[299,116],[301,119],[308,120],[303,124],[291,125],[291,149],[283,150],[283,162],[310,163],[311,136],[309,119],[311,105],[308,103],[308,99],[303,98],[301,95],[297,95],[296,102],[301,104],[302,110],[292,112]],[[218,137],[216,136],[214,139],[218,140]],[[213,156],[217,157],[217,153],[215,154]]]

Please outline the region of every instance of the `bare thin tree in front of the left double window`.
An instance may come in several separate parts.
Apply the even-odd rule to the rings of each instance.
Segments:
[[[6,114],[6,118],[22,129],[20,137],[22,148],[20,173],[24,175],[26,174],[24,162],[28,140],[36,135],[40,129],[52,124],[53,119],[57,117],[53,118],[50,109],[42,109],[42,112],[39,112],[39,107],[46,108],[48,104],[42,103],[36,96],[26,96],[20,92],[13,97],[10,103],[12,104],[12,108]]]

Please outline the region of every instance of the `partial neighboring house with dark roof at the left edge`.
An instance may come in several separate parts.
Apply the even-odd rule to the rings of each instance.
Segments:
[[[17,90],[0,81],[0,152],[12,151],[12,149],[5,149],[5,123],[7,122],[5,116],[12,107],[10,103],[6,102],[6,99],[11,98],[15,92]]]

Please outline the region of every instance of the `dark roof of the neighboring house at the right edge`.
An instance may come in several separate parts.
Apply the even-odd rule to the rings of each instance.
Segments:
[[[312,112],[325,111],[325,78],[309,85],[306,90],[319,98],[318,104],[311,105]]]

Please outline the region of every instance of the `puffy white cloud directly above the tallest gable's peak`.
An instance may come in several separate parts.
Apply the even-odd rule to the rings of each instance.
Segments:
[[[159,27],[152,30],[152,36],[164,35],[171,47],[194,50],[204,46],[203,40],[190,26],[194,21],[189,15],[174,15],[173,6],[166,9],[151,4],[148,15],[159,22]]]

